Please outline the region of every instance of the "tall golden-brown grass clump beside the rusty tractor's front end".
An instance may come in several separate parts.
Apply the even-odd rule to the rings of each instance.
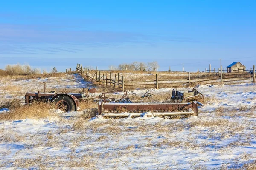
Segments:
[[[50,113],[49,109],[54,108],[53,105],[45,102],[34,103],[33,105],[23,105],[20,102],[12,102],[10,111],[0,114],[0,120],[19,120],[19,119],[40,119],[49,116],[56,116]]]

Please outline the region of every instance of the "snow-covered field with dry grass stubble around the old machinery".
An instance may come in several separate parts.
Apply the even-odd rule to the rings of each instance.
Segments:
[[[35,81],[45,80],[0,80],[0,97],[15,97],[1,90],[7,83],[24,91],[36,88]],[[69,88],[87,84],[73,76],[61,81]],[[84,119],[83,111],[51,110],[55,116],[47,119],[0,121],[0,168],[255,169],[256,85],[200,85],[197,89],[207,99],[199,117]],[[172,88],[134,92],[141,96],[146,91],[161,96]],[[6,112],[0,110],[0,114]]]

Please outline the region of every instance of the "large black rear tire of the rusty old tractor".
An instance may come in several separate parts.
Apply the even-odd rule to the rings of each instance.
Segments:
[[[76,110],[75,103],[69,96],[57,96],[56,98],[52,99],[52,102],[55,102],[56,109],[61,109],[64,112]]]

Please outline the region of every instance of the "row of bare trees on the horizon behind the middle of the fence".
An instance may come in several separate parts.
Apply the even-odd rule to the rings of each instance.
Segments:
[[[158,67],[157,61],[148,62],[147,64],[144,62],[132,62],[130,64],[119,64],[117,69],[122,71],[155,71]]]

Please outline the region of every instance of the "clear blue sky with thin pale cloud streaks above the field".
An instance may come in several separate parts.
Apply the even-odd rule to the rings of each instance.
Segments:
[[[0,68],[107,69],[158,61],[161,71],[256,64],[255,0],[9,0],[0,5]]]

